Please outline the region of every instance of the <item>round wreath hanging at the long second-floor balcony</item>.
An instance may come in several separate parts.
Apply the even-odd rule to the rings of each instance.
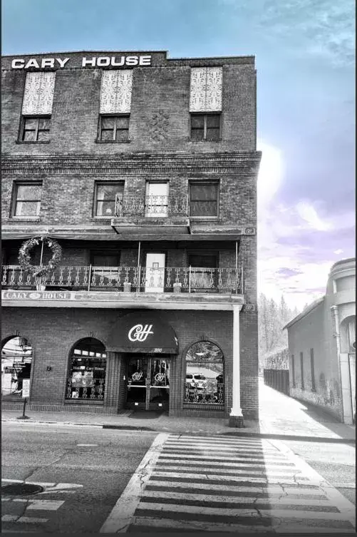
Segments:
[[[31,265],[31,255],[30,252],[33,247],[39,245],[40,242],[43,242],[43,245],[47,245],[52,250],[51,260],[48,261],[46,267],[34,267]],[[41,278],[50,274],[55,270],[62,257],[62,248],[58,242],[51,237],[33,237],[32,239],[26,240],[22,243],[19,250],[19,263],[23,270],[31,272],[34,277]]]

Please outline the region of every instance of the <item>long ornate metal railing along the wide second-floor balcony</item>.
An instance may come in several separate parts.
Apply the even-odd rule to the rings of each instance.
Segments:
[[[38,267],[39,269],[40,267]],[[242,294],[242,267],[58,267],[39,280],[18,265],[2,267],[3,288]]]

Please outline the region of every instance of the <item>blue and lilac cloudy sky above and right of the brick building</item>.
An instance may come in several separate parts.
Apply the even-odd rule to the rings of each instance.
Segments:
[[[256,56],[258,290],[299,310],[355,257],[353,0],[2,0],[2,53]]]

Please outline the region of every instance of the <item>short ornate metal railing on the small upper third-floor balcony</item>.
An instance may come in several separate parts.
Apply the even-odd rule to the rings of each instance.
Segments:
[[[148,216],[170,217],[187,216],[188,201],[186,195],[146,196],[146,198],[125,198],[115,196],[116,217]]]

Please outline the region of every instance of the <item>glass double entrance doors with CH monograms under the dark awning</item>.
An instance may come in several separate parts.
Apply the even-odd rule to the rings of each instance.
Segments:
[[[168,409],[170,395],[170,360],[139,357],[129,359],[128,408]]]

